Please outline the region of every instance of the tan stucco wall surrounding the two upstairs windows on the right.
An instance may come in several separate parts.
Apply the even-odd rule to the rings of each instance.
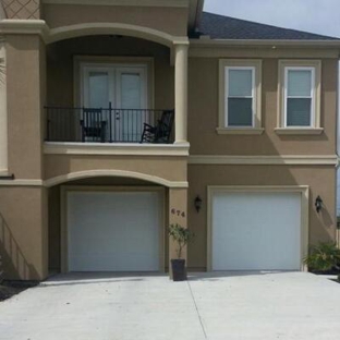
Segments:
[[[254,53],[253,58],[256,58]],[[263,59],[263,135],[218,135],[218,59],[190,58],[189,141],[192,155],[333,155],[338,60],[321,60],[320,135],[278,135],[278,59]]]

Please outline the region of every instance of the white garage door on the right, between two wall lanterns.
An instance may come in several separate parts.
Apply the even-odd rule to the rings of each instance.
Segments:
[[[212,270],[299,270],[300,193],[212,194]]]

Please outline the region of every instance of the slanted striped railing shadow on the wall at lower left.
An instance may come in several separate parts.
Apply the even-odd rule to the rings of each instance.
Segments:
[[[22,250],[14,239],[8,223],[0,214],[0,255],[3,268],[3,278],[8,280],[31,280],[37,278],[35,268],[27,263]]]

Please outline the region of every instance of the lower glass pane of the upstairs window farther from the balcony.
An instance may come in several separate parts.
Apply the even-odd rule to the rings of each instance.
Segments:
[[[311,98],[288,98],[287,126],[311,126]]]

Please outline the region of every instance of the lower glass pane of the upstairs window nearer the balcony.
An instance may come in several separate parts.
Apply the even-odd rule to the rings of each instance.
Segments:
[[[228,126],[253,126],[253,99],[228,99]]]

